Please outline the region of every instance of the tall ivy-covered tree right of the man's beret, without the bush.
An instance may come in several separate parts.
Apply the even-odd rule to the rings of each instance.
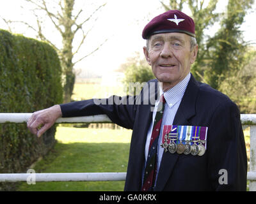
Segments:
[[[228,1],[226,18],[220,22],[220,30],[207,42],[209,66],[205,71],[205,80],[214,89],[219,89],[225,78],[246,65],[248,43],[243,39],[240,26],[252,4],[252,0]]]

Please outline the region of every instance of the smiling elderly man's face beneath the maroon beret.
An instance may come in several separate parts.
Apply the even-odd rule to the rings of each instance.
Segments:
[[[148,48],[144,54],[152,71],[163,82],[166,91],[189,73],[191,64],[195,62],[198,46],[190,50],[190,37],[184,33],[161,33],[150,36]]]

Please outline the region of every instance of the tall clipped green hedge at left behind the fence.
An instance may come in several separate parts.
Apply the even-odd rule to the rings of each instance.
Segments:
[[[1,29],[0,82],[1,113],[32,113],[63,101],[55,50],[42,41]],[[51,149],[55,130],[53,127],[37,138],[26,124],[0,124],[0,173],[26,172]],[[8,189],[3,184],[0,190]]]

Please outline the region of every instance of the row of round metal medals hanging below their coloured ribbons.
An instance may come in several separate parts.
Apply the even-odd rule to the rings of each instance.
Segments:
[[[167,143],[167,134],[164,136],[164,143],[161,143],[161,147],[164,148],[164,152],[169,151],[170,153],[174,154],[177,152],[178,154],[192,154],[193,156],[202,156],[205,153],[205,147],[202,143],[205,143],[205,140],[179,140],[179,144],[177,145],[175,143],[177,138],[169,138],[171,142],[168,144]],[[196,139],[196,138],[195,138]],[[185,142],[183,144],[182,142]],[[189,143],[193,142],[193,145],[190,145]],[[196,144],[198,143],[198,145]]]

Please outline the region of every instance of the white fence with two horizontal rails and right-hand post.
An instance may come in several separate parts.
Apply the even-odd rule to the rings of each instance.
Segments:
[[[32,113],[0,113],[0,123],[24,123]],[[109,123],[106,115],[60,118],[56,123]],[[247,174],[249,190],[256,191],[256,114],[241,114],[243,127],[250,126],[250,171]],[[125,172],[116,173],[0,173],[0,182],[27,181],[106,181],[125,180]]]

